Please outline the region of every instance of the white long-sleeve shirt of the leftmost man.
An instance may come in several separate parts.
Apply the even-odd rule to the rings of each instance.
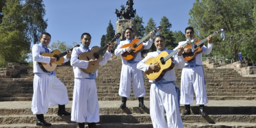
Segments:
[[[49,50],[49,53],[53,52],[52,49],[50,48],[48,48],[48,50]],[[42,53],[45,53],[45,49],[43,47],[41,47],[39,44],[33,45],[32,47],[33,72],[48,74],[40,68],[38,62],[50,63],[51,57],[41,56]],[[67,58],[67,55],[66,55],[64,56],[64,63],[67,61],[69,61],[69,59]]]

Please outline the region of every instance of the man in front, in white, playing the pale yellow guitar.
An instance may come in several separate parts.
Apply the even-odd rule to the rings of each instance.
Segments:
[[[157,57],[160,53],[168,52],[169,54],[173,50],[166,48],[165,37],[163,35],[156,35],[155,46],[156,52],[150,52],[147,56],[141,60],[137,68],[146,72],[147,70],[158,70],[159,63],[152,63],[151,65],[145,64],[147,60]],[[184,67],[184,59],[182,57],[183,46],[178,48],[178,53],[174,54],[174,65],[177,68],[182,69]],[[176,81],[176,75],[174,68],[167,71],[163,78],[159,81],[150,80],[150,116],[154,128],[183,128],[181,115],[179,112],[178,96],[175,89],[174,82]],[[165,113],[166,111],[166,118]]]

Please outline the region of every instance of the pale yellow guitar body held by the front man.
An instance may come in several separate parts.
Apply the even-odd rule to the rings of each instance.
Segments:
[[[173,58],[168,59],[167,61],[165,61],[163,63],[161,62],[161,59],[166,56],[168,56],[168,52],[163,51],[157,57],[152,57],[145,61],[146,65],[151,65],[156,62],[159,63],[159,66],[158,66],[159,68],[157,70],[154,71],[154,70],[149,69],[145,72],[148,79],[159,81],[162,79],[162,77],[165,75],[165,73],[167,71],[173,69],[173,67],[174,67]]]

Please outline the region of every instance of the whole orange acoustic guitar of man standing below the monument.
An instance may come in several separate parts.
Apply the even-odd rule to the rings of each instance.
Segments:
[[[162,29],[162,27],[161,27],[161,26],[158,26],[158,27],[157,27],[156,29],[154,29],[152,32],[159,31],[160,29]],[[149,36],[150,36],[150,34],[148,33],[148,34],[145,35],[145,37],[143,37],[141,40],[140,40],[140,39],[133,39],[133,40],[131,41],[131,43],[123,45],[121,48],[130,47],[130,48],[132,49],[132,52],[130,52],[130,53],[124,52],[124,53],[122,54],[122,56],[124,57],[124,59],[126,59],[126,60],[134,60],[134,59],[136,58],[137,54],[143,50],[143,44],[142,44],[142,42],[143,42],[144,40],[146,40]]]

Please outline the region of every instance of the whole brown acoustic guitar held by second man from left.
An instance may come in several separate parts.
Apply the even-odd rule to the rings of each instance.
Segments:
[[[111,40],[111,42],[114,42],[116,39],[118,39],[120,37],[120,33],[117,33],[115,35],[115,37]],[[93,73],[95,72],[98,67],[99,67],[99,63],[100,61],[103,59],[103,57],[101,56],[102,52],[108,48],[108,46],[110,45],[109,44],[106,44],[104,47],[100,48],[98,46],[94,46],[92,49],[91,49],[91,52],[84,52],[82,54],[79,55],[78,59],[79,60],[86,60],[86,61],[89,61],[90,59],[97,59],[97,62],[93,65],[88,65],[87,69],[83,69],[81,68],[81,70],[85,73]]]

